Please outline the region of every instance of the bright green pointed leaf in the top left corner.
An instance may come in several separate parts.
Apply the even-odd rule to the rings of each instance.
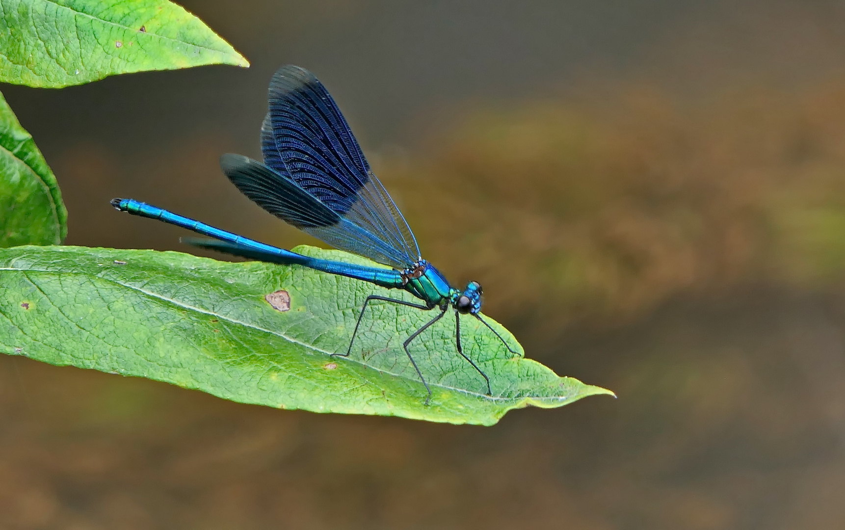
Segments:
[[[166,0],[0,0],[0,81],[61,88],[108,75],[249,63]]]

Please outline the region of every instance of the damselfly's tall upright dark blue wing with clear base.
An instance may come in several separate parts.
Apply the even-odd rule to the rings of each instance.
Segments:
[[[411,228],[319,80],[304,68],[279,68],[270,81],[269,107],[261,127],[264,163],[341,217],[337,225],[300,228],[397,269],[416,263],[420,253]]]

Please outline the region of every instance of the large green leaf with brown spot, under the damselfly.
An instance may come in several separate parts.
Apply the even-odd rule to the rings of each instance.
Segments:
[[[336,250],[297,252],[373,265]],[[412,298],[299,266],[152,250],[19,247],[0,249],[0,285],[0,352],[167,381],[237,402],[489,425],[512,408],[560,407],[610,393],[510,354],[477,320],[463,318],[465,352],[491,380],[493,396],[486,396],[482,377],[455,352],[453,317],[412,342],[433,391],[424,405],[427,393],[401,342],[433,313],[373,304],[352,356],[332,357],[346,352],[368,294]]]

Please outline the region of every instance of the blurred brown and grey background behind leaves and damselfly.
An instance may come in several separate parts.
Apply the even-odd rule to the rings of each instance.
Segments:
[[[617,391],[492,428],[280,412],[0,358],[0,528],[845,527],[845,3],[184,2],[250,59],[4,86],[68,244],[148,200],[314,243],[217,167],[316,73],[454,281]]]

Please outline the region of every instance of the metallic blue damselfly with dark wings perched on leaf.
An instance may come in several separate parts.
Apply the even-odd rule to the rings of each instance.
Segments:
[[[408,346],[443,318],[451,307],[455,310],[457,352],[482,375],[487,382],[487,393],[491,395],[490,378],[461,347],[461,314],[481,321],[511,353],[519,353],[479,314],[481,286],[471,281],[463,291],[451,287],[439,270],[423,260],[405,217],[370,171],[346,119],[313,74],[293,65],[279,68],[270,81],[269,100],[270,108],[261,125],[264,163],[241,155],[223,155],[221,167],[226,177],[249,199],[283,221],[337,249],[389,265],[392,270],[296,254],[135,199],[112,199],[112,205],[117,210],[165,221],[214,238],[186,241],[204,249],[250,260],[303,265],[380,287],[404,289],[423,301],[412,303],[376,294],[368,296],[352,331],[349,347],[345,353],[335,355],[350,355],[364,312],[373,300],[423,310],[438,309],[431,320],[402,343],[428,391],[427,404],[431,388]]]

